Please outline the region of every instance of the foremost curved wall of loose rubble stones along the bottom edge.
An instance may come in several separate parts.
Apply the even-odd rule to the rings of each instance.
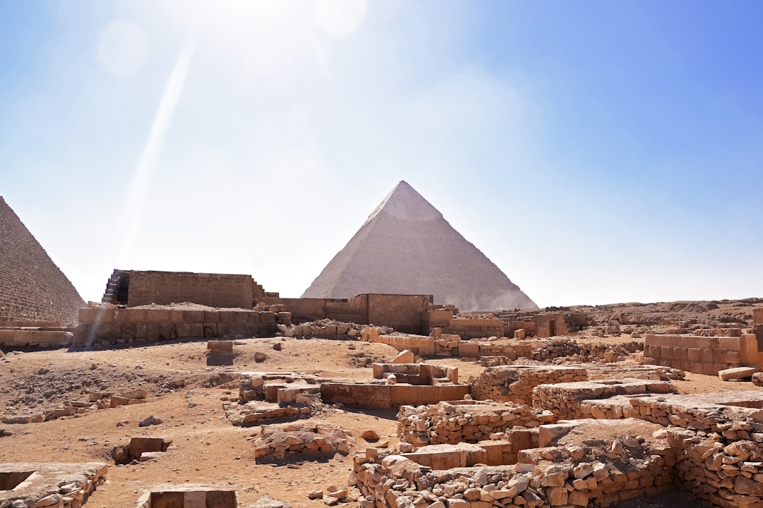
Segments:
[[[436,474],[410,456],[368,449],[355,455],[353,481],[368,503],[361,506],[375,508],[606,506],[658,494],[670,486],[673,459],[667,446],[654,440],[636,441],[631,447],[620,443],[614,453],[612,445],[612,440],[600,439],[600,446],[585,449],[534,449],[520,452],[522,463],[516,465],[450,468]],[[459,452],[457,446],[441,447],[445,462],[452,452]],[[581,452],[584,462],[568,462]]]

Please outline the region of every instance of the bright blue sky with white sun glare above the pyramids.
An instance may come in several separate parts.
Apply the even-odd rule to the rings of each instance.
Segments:
[[[756,2],[0,6],[0,195],[85,300],[300,296],[400,180],[541,306],[761,296]]]

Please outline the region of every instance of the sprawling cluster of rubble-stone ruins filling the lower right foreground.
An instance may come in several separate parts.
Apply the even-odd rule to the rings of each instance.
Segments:
[[[400,449],[358,452],[352,481],[367,508],[608,506],[673,485],[700,504],[761,506],[763,395],[671,388],[567,382],[537,385],[532,407],[401,407]]]

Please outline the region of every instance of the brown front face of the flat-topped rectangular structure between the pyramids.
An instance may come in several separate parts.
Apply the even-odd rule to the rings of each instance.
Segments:
[[[127,306],[192,302],[220,308],[252,308],[250,275],[130,270]]]

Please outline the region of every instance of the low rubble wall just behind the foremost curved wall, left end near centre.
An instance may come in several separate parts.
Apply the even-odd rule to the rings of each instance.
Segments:
[[[429,406],[402,406],[398,412],[398,436],[414,446],[477,443],[494,439],[497,434],[502,437],[507,428],[538,427],[540,420],[548,417],[526,404],[443,401]]]

